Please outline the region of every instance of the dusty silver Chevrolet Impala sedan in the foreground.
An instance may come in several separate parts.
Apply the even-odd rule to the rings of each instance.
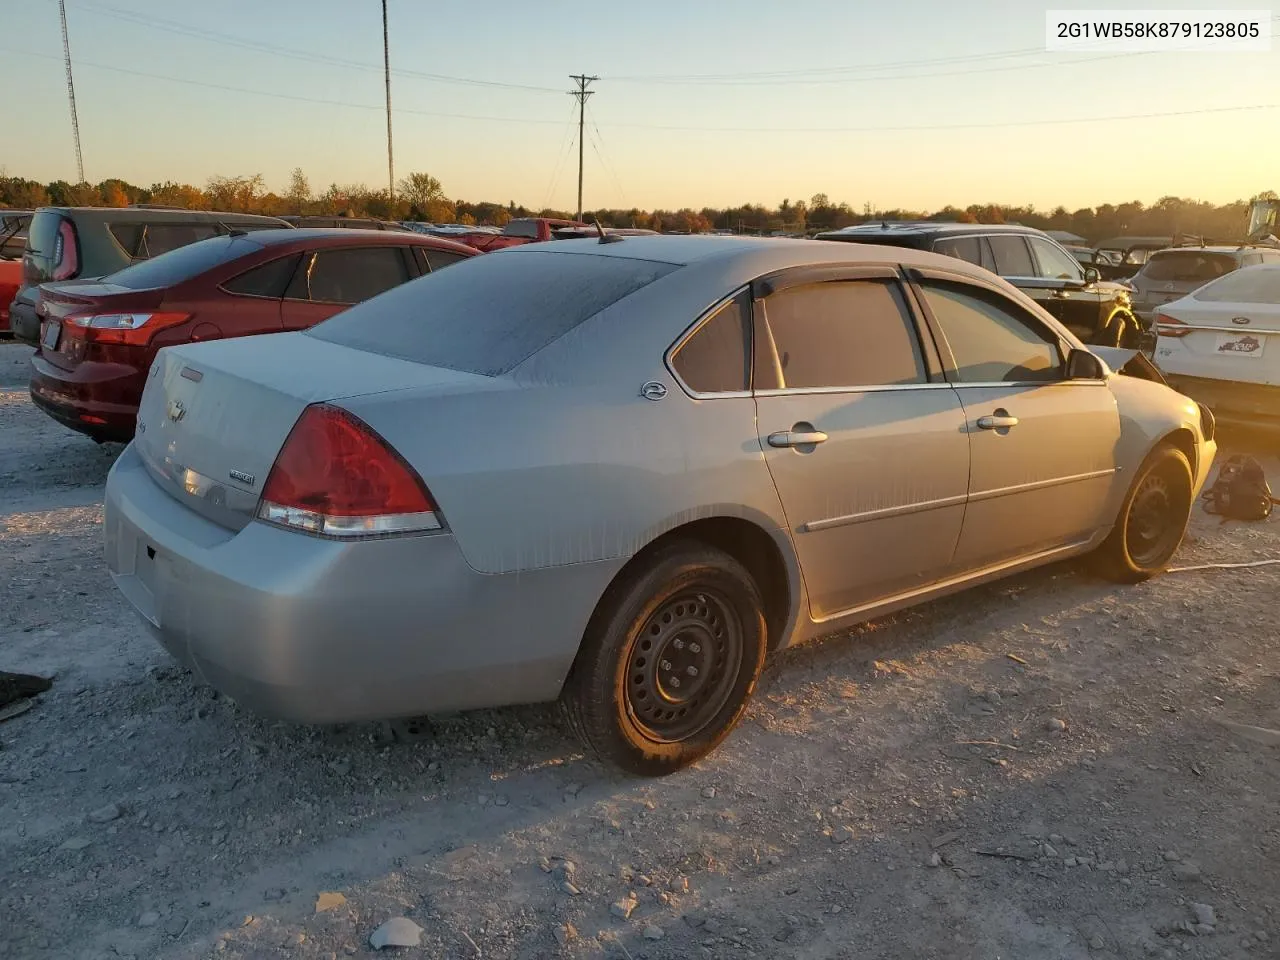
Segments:
[[[248,708],[558,699],[599,755],[662,774],[782,648],[1085,553],[1158,573],[1213,420],[1112,372],[1130,357],[923,251],[531,244],[306,332],[161,351],[106,484],[108,567]]]

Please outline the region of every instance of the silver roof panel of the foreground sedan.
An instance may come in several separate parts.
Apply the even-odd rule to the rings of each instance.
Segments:
[[[726,265],[737,260],[749,265],[756,275],[767,274],[771,270],[817,264],[904,264],[992,279],[991,274],[979,266],[924,250],[877,243],[815,243],[790,237],[717,237],[695,233],[622,237],[609,243],[602,243],[595,238],[563,239],[554,243],[525,243],[507,247],[485,253],[485,257],[527,256],[531,253],[626,257],[675,266],[710,264],[713,261]]]

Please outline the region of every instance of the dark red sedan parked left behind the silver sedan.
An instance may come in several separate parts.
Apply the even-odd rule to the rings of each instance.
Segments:
[[[101,279],[44,284],[31,398],[100,443],[125,442],[161,347],[302,330],[475,255],[408,232],[233,230]]]

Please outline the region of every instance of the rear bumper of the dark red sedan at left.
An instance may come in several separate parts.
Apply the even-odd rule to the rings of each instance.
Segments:
[[[31,358],[32,402],[63,426],[95,440],[133,438],[136,398],[145,383],[145,374],[119,364],[81,364],[68,371],[38,353]]]

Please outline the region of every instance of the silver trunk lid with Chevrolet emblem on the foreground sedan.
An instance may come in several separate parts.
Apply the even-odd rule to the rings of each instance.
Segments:
[[[489,378],[297,333],[180,344],[156,355],[133,443],[172,497],[241,530],[256,515],[271,465],[308,404],[476,381]]]

